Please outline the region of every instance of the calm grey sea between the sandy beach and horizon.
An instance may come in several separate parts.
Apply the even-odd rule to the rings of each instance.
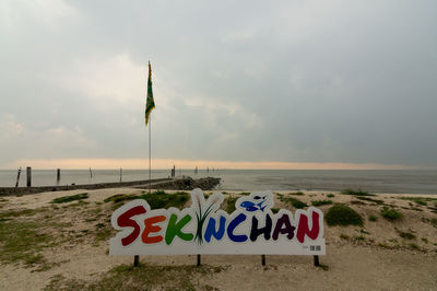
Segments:
[[[120,175],[121,174],[121,175]],[[0,170],[0,187],[13,187],[16,170]],[[169,177],[168,170],[152,171],[152,178]],[[176,176],[220,177],[217,190],[362,189],[370,193],[436,194],[437,170],[176,170]],[[59,185],[149,179],[147,170],[61,170]],[[32,170],[32,186],[56,185],[56,170]],[[19,187],[26,186],[26,170]]]

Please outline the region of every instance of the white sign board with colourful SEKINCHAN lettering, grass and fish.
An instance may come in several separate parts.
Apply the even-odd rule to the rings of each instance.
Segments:
[[[214,193],[206,200],[191,191],[191,207],[151,209],[144,199],[114,211],[119,232],[109,242],[109,255],[265,254],[324,255],[323,212],[315,207],[293,214],[273,213],[271,191],[255,191],[235,202],[228,214]]]

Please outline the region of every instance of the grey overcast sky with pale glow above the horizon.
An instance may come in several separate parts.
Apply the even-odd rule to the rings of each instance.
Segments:
[[[436,27],[434,0],[3,0],[0,168],[146,159],[149,60],[154,159],[436,168]]]

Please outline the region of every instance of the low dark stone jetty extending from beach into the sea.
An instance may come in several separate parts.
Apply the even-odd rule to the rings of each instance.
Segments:
[[[202,190],[212,190],[220,184],[220,178],[204,177],[193,179],[191,177],[181,178],[157,178],[152,179],[153,189],[172,189],[172,190],[192,190],[194,188],[201,188]],[[45,191],[66,191],[75,189],[104,189],[104,188],[120,188],[120,187],[133,187],[133,188],[149,188],[149,179],[144,181],[132,181],[121,183],[98,183],[98,184],[84,184],[84,185],[63,185],[63,186],[39,186],[39,187],[0,187],[0,196],[11,195],[28,195]]]

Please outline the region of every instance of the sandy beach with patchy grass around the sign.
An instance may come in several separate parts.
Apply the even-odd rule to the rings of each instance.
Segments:
[[[84,193],[87,198],[79,201],[52,203],[56,198]],[[137,277],[129,277],[135,271],[126,270],[133,258],[108,256],[115,203],[105,199],[142,193],[133,188],[79,189],[0,198],[0,290],[105,289],[108,286],[103,282],[110,281],[109,277],[125,280],[121,287],[127,290],[437,289],[435,196],[379,194],[363,199],[320,191],[281,191],[274,199],[276,208],[293,212],[296,209],[284,197],[308,206],[331,200],[318,206],[324,214],[334,203],[345,203],[362,216],[363,226],[324,224],[327,255],[320,257],[321,267],[314,266],[311,256],[267,256],[263,267],[259,255],[205,255],[200,268],[194,255],[141,256],[137,273],[142,271],[141,278],[149,281],[135,286]],[[238,195],[225,193],[226,197]],[[383,218],[383,207],[395,209],[402,218]],[[8,246],[12,236],[31,230],[35,232],[32,242],[20,248]]]

